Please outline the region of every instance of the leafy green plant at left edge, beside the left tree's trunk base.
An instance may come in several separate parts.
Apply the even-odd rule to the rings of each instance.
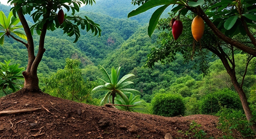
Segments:
[[[0,88],[7,95],[4,89],[11,88],[12,92],[21,89],[21,86],[17,83],[19,79],[24,79],[22,72],[24,67],[19,68],[19,64],[11,64],[11,60],[5,61],[5,63],[0,62]]]

